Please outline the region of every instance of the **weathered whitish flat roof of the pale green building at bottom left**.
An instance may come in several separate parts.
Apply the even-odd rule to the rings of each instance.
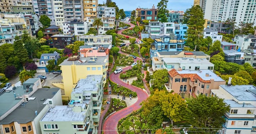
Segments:
[[[54,106],[48,110],[41,121],[84,121],[85,112],[74,112],[73,107],[69,106]]]

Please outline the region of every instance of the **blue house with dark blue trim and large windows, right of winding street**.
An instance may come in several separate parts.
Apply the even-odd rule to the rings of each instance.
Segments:
[[[154,37],[151,36],[151,38]],[[160,38],[154,38],[154,42],[151,44],[150,48],[150,57],[156,57],[156,52],[182,51],[184,44],[185,41],[171,39],[171,37],[166,35]]]

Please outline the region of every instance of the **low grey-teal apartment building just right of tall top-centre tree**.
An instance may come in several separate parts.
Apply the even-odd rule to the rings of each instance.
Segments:
[[[184,15],[184,11],[170,10],[168,15],[167,15],[168,22],[173,22],[173,23],[176,23],[176,24],[182,23],[183,22],[183,15]]]

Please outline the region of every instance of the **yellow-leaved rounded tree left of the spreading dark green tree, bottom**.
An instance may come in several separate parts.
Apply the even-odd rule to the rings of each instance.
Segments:
[[[172,123],[182,121],[185,115],[186,103],[177,93],[167,93],[162,97],[162,110]]]

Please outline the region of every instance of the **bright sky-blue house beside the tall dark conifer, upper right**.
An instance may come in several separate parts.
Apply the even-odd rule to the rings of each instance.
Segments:
[[[175,24],[174,34],[177,40],[185,40],[188,26],[187,24]]]

